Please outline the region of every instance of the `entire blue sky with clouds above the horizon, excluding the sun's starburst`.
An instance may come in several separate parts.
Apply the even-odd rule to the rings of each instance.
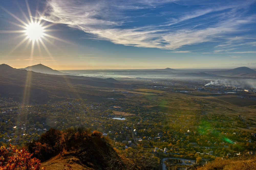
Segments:
[[[29,18],[26,1],[0,2],[0,59],[15,68],[256,68],[253,0],[27,2],[34,20],[54,25],[42,38],[47,49],[39,43],[31,55],[8,32]]]

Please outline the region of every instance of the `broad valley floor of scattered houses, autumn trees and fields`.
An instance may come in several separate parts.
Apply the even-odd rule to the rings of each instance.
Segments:
[[[50,128],[83,126],[110,138],[120,152],[143,148],[161,158],[197,162],[254,154],[255,90],[204,84],[148,81],[139,89],[103,89],[119,98],[3,108],[1,145],[22,146]],[[14,103],[1,100],[2,106]]]

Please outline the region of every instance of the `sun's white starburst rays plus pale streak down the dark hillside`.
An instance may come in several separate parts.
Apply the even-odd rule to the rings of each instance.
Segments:
[[[21,56],[24,56],[24,54],[26,54],[30,50],[30,58],[28,59],[30,61],[30,64],[32,64],[32,60],[35,61],[34,54],[36,54],[37,52],[41,57],[44,55],[44,53],[47,53],[47,55],[52,60],[54,60],[52,54],[47,48],[47,44],[45,43],[49,43],[52,46],[56,47],[57,49],[60,49],[60,48],[56,45],[56,43],[51,42],[50,41],[51,39],[58,40],[67,44],[72,44],[72,43],[66,40],[63,40],[61,38],[55,37],[53,35],[44,33],[44,32],[60,31],[60,29],[47,29],[56,24],[49,23],[49,21],[43,20],[44,18],[40,17],[40,16],[44,16],[45,12],[47,11],[46,8],[42,13],[40,13],[38,12],[39,6],[37,4],[37,10],[36,10],[35,16],[32,16],[28,1],[25,0],[25,2],[26,2],[28,15],[26,15],[25,14],[26,12],[24,12],[23,9],[19,7],[19,10],[22,13],[22,17],[24,18],[23,20],[17,17],[16,15],[14,15],[13,13],[11,13],[10,11],[8,11],[7,9],[0,6],[4,11],[6,11],[6,13],[8,13],[10,16],[12,16],[18,21],[18,23],[13,21],[6,21],[6,22],[9,22],[10,24],[20,27],[22,29],[22,30],[0,30],[0,33],[20,33],[20,35],[17,35],[11,38],[11,39],[20,38],[20,42],[16,44],[14,48],[9,51],[7,56],[13,53],[13,51],[17,50],[18,48],[20,49],[20,46],[23,45],[24,43],[25,45],[23,45],[24,47],[22,46],[23,50],[21,51],[22,52]],[[31,49],[28,49],[28,46],[30,45],[31,45]],[[23,104],[29,104],[31,76],[32,76],[32,73],[28,72],[26,83],[25,83],[24,95],[23,95]]]

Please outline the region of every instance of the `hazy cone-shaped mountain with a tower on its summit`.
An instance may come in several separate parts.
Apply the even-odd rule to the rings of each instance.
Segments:
[[[71,75],[69,73],[63,73],[58,70],[53,70],[50,67],[47,67],[43,64],[37,64],[34,66],[28,66],[26,68],[20,68],[20,69],[24,69],[27,71],[34,71],[34,72],[38,72],[38,73],[45,73],[45,74]]]

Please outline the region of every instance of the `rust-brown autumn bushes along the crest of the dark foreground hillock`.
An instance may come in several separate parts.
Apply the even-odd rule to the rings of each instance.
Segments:
[[[97,130],[91,132],[90,129],[79,127],[60,131],[51,128],[38,140],[27,143],[27,148],[36,158],[45,161],[66,151],[81,149],[92,139],[104,142],[107,140]]]

